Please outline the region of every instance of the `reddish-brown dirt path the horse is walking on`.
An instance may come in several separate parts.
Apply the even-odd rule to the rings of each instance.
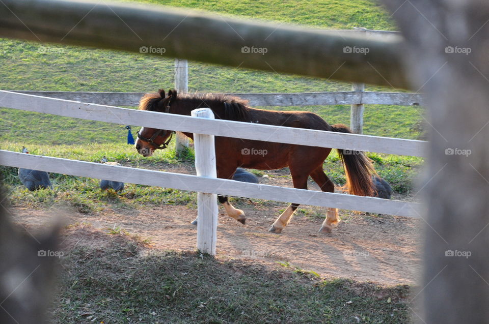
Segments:
[[[186,163],[152,168],[195,174],[193,165]],[[287,169],[265,173],[269,177],[260,178],[260,183],[292,187]],[[310,181],[309,189],[318,190],[318,187]],[[415,200],[402,195],[394,195],[393,199]],[[421,268],[421,220],[340,211],[342,221],[329,234],[317,232],[322,219],[302,215],[294,216],[281,234],[268,233],[286,205],[240,205],[247,215],[246,225],[226,216],[220,207],[217,256],[253,258],[265,263],[288,261],[292,266],[315,271],[324,277],[383,284],[417,281]],[[53,211],[14,208],[12,214],[19,223],[36,226],[44,224]],[[197,228],[190,222],[196,216],[195,209],[162,205],[132,211],[105,209],[95,215],[70,213],[66,217],[69,223],[88,222],[101,229],[123,228],[143,239],[149,238],[155,249],[195,250]]]

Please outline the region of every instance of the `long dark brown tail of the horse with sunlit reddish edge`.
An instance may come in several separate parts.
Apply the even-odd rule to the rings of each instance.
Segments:
[[[333,132],[352,133],[342,124],[333,125],[332,128]],[[345,168],[348,193],[357,196],[372,196],[374,193],[372,175],[376,175],[377,172],[370,159],[361,151],[338,149],[338,155]]]

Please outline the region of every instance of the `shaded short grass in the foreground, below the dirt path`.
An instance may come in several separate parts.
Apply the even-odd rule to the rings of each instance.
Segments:
[[[290,264],[271,269],[137,246],[119,239],[66,252],[50,322],[410,322],[406,285],[321,280]]]

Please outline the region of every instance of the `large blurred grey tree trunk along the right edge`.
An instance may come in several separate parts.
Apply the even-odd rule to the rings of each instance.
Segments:
[[[427,95],[426,323],[489,322],[489,3],[384,0]]]

